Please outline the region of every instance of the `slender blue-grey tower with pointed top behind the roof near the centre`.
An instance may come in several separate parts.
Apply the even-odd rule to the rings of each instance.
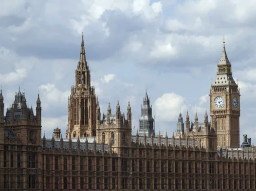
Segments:
[[[147,137],[155,136],[155,119],[152,117],[152,108],[150,107],[149,97],[147,92],[143,98],[143,106],[141,107],[141,117],[139,118],[139,136]]]

